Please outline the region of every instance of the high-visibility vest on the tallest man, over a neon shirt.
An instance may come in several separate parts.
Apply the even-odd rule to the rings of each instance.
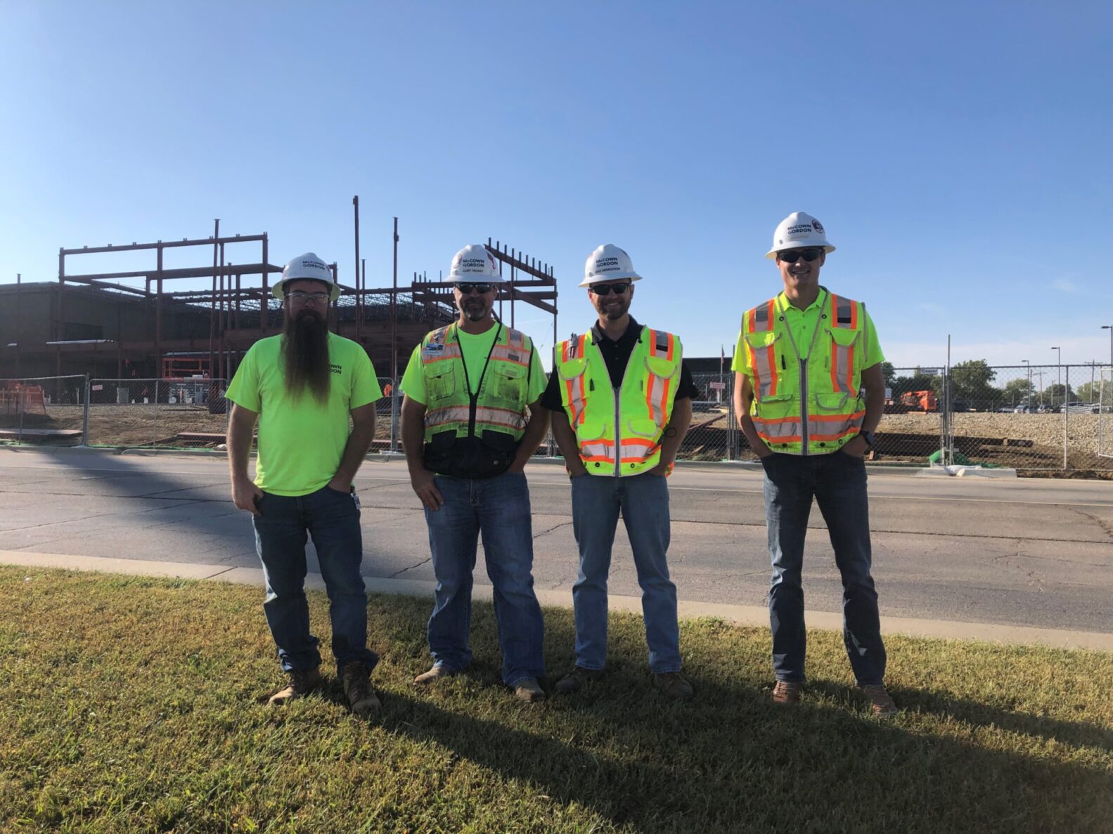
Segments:
[[[825,290],[826,292],[826,290]],[[742,316],[752,369],[750,416],[774,451],[824,455],[861,430],[866,306],[827,292],[810,345],[797,345],[777,299]]]

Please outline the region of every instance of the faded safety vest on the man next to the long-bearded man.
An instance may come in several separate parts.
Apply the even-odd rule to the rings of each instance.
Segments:
[[[522,439],[533,342],[529,336],[501,322],[498,327],[474,396],[455,322],[433,330],[422,340],[421,367],[427,400],[425,443],[443,431],[452,431],[456,437],[482,437],[484,431],[499,431],[515,441]]]

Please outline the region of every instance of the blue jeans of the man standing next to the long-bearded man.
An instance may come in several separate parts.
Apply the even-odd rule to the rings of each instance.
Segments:
[[[508,686],[545,674],[541,643],[544,625],[533,593],[533,526],[530,488],[521,473],[472,480],[437,475],[444,498],[425,509],[429,547],[436,576],[436,604],[429,618],[429,647],[439,666],[465,668],[472,662],[472,572],[483,534],[487,576],[494,587],[494,616]]]

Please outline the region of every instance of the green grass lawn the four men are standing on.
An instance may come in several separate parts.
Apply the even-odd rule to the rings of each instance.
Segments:
[[[697,686],[662,701],[641,619],[588,692],[516,703],[494,617],[432,689],[432,599],[373,597],[380,721],[328,688],[284,707],[262,590],[0,567],[0,832],[1110,832],[1113,655],[890,637],[874,718],[814,632],[797,708],[765,629],[686,623]],[[327,645],[326,599],[311,596]],[[571,612],[545,612],[555,678]]]

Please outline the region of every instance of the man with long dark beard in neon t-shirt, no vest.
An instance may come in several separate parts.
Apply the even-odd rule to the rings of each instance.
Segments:
[[[368,717],[381,706],[370,683],[378,655],[367,648],[359,502],[352,479],[374,438],[382,391],[363,347],[328,331],[328,302],[339,287],[321,258],[294,258],[274,294],[283,299],[283,334],[252,346],[227,394],[234,404],[232,498],[253,516],[267,587],[263,608],[287,675],[269,703],[284,704],[322,683],[305,597],[308,534],[328,590],[336,674],[352,712]],[[256,420],[253,481],[247,458]]]

